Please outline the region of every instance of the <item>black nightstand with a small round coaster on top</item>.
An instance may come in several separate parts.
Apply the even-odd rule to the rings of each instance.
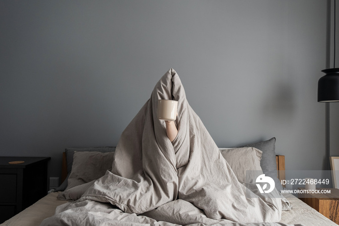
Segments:
[[[48,191],[50,157],[0,157],[0,224],[26,209]],[[25,161],[9,164],[11,161]]]

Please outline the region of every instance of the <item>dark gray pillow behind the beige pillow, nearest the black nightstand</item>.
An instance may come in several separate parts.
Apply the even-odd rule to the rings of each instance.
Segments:
[[[72,170],[73,155],[75,151],[99,151],[99,152],[114,152],[115,147],[85,147],[85,148],[66,148],[66,161],[67,161],[67,177],[62,184],[54,190],[54,192],[64,191],[68,185],[68,178]]]

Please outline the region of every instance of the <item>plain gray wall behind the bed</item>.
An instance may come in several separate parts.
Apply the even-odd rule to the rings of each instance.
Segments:
[[[326,3],[1,0],[0,155],[59,177],[65,147],[116,145],[173,67],[218,146],[275,136],[288,169],[323,169]]]

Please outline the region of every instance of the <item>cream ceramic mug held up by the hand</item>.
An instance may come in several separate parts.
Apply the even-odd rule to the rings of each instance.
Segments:
[[[158,100],[158,119],[174,121],[177,118],[178,101],[169,99]]]

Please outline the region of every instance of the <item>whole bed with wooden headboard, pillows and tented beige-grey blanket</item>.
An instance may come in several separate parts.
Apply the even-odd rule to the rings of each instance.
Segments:
[[[155,116],[158,99],[178,101],[172,142],[165,122]],[[273,137],[217,147],[170,69],[116,147],[67,148],[60,192],[4,225],[335,226],[293,195],[280,193],[285,163],[275,143]]]

